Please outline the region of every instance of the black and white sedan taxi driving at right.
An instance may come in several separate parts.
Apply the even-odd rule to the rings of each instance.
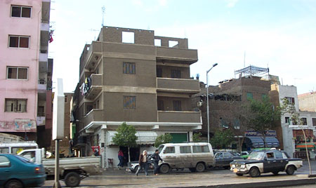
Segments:
[[[258,177],[261,173],[277,175],[282,171],[288,175],[293,175],[294,171],[302,166],[302,159],[290,159],[284,151],[269,149],[253,151],[244,161],[232,161],[230,170],[238,176],[249,174],[251,177]]]

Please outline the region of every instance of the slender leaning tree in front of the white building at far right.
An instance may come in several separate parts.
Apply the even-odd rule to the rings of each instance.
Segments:
[[[303,136],[304,136],[304,140],[305,140],[305,151],[306,151],[306,155],[308,158],[308,166],[310,168],[310,175],[312,174],[312,168],[310,167],[310,156],[308,155],[308,148],[307,148],[307,139],[306,139],[306,134],[305,134],[305,130],[302,127],[302,121],[300,118],[300,114],[296,111],[296,107],[294,106],[294,103],[289,102],[289,100],[287,100],[287,98],[282,98],[282,105],[280,107],[282,114],[286,114],[289,113],[291,116],[291,121],[298,125],[302,132],[303,132]]]

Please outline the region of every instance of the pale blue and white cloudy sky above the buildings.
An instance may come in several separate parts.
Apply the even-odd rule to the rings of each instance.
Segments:
[[[105,7],[103,14],[102,7]],[[53,81],[64,92],[79,81],[79,58],[102,24],[151,29],[157,36],[187,38],[199,60],[190,66],[209,84],[235,77],[244,65],[269,67],[298,94],[316,90],[316,1],[314,0],[52,0]]]

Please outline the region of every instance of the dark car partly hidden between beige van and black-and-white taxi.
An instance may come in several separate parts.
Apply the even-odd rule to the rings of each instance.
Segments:
[[[230,162],[234,160],[238,160],[238,159],[242,160],[243,158],[233,152],[216,152],[215,153],[215,166],[229,169]]]

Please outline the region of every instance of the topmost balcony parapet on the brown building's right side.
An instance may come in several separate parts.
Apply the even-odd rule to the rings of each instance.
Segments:
[[[168,48],[157,46],[157,60],[164,60],[167,62],[187,62],[191,65],[197,62],[197,50],[181,49],[181,48]]]

